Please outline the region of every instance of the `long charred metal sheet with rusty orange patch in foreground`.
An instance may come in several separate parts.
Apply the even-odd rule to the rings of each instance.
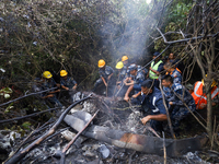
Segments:
[[[80,113],[83,115],[83,113]],[[82,118],[82,117],[81,117]],[[73,129],[79,130],[83,120],[68,115],[65,121]],[[122,130],[110,129],[108,127],[90,126],[82,133],[88,138],[104,141],[106,143],[116,145],[118,148],[131,149],[149,154],[163,155],[163,139],[157,137],[149,137],[145,134],[128,133]],[[201,150],[203,137],[173,140],[166,139],[166,154],[172,157],[182,156],[191,151]]]

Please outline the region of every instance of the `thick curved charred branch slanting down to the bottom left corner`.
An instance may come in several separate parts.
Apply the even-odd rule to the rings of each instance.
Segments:
[[[64,118],[66,117],[66,115],[69,113],[69,110],[76,106],[77,104],[88,99],[91,97],[91,94],[78,102],[76,102],[74,104],[70,105],[62,114],[61,116],[58,118],[58,120],[55,122],[55,125],[46,132],[44,133],[41,138],[38,138],[37,140],[35,140],[33,143],[31,143],[30,145],[27,145],[25,149],[23,149],[22,151],[19,151],[16,154],[14,154],[13,156],[11,156],[9,159],[9,161],[7,161],[4,164],[15,164],[18,163],[20,160],[22,160],[30,151],[32,151],[34,148],[36,148],[38,144],[41,144],[46,138],[48,138],[49,136],[51,136],[56,129],[58,128],[58,126],[61,124],[61,121],[64,120]]]

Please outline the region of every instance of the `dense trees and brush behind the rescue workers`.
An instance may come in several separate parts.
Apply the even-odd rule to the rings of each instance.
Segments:
[[[152,52],[168,45],[163,56],[174,52],[186,66],[184,84],[204,77],[210,85],[212,77],[219,79],[218,11],[219,3],[212,0],[0,1],[0,86],[7,90],[1,92],[16,98],[32,92],[43,71],[58,74],[61,69],[73,75],[81,90],[89,90],[97,78],[99,59],[115,67],[128,55],[143,66]],[[201,39],[171,43],[198,36]],[[0,95],[1,103],[10,98]],[[36,108],[43,110],[44,106],[27,97],[1,106],[0,118]],[[211,107],[208,109],[206,130],[211,138]]]

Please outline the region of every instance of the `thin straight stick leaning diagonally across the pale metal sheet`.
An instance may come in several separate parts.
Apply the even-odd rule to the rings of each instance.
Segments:
[[[99,109],[100,110],[100,109]],[[97,115],[99,110],[95,112],[95,114],[93,115],[93,117],[90,119],[89,122],[87,122],[87,125],[84,126],[83,129],[81,129],[77,136],[68,143],[68,145],[66,145],[64,148],[64,150],[61,151],[61,159],[60,159],[60,164],[65,164],[65,159],[66,159],[66,152],[68,151],[68,149],[71,147],[71,144],[73,144],[73,142],[76,141],[76,139],[78,139],[78,137],[85,130],[85,128],[91,124],[91,121],[94,119],[94,117]]]

